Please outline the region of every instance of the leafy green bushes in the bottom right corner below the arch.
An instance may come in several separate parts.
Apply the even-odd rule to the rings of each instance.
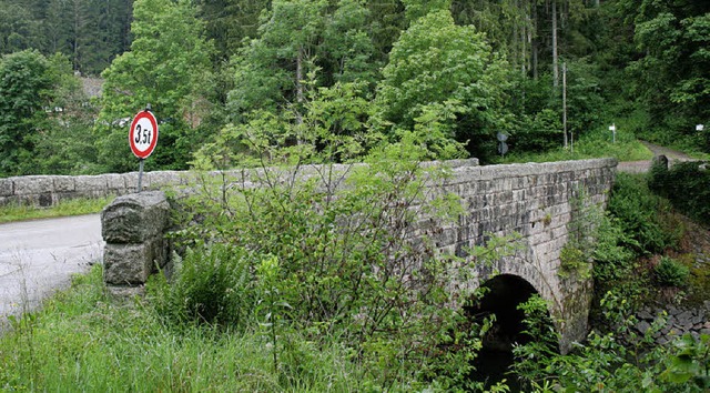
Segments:
[[[699,342],[683,339],[676,347],[660,346],[655,343],[653,334],[662,329],[662,319],[643,335],[638,335],[632,329],[638,321],[626,296],[608,292],[601,306],[615,331],[591,332],[587,342],[577,344],[570,354],[552,353],[538,343],[514,350],[514,370],[528,390],[660,393],[707,389],[708,370],[703,367],[710,360],[707,336]],[[526,324],[536,325],[540,323],[540,313],[535,311],[545,310],[545,303],[528,302],[524,310]]]

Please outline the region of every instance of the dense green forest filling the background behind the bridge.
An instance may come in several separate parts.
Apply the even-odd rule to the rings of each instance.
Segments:
[[[495,162],[609,138],[710,151],[710,3],[688,0],[1,0],[0,175],[223,168],[258,129],[357,160],[420,138]],[[87,78],[102,93],[87,94]],[[100,78],[100,79],[98,79]],[[82,84],[83,83],[83,84]],[[604,155],[604,152],[597,152]]]

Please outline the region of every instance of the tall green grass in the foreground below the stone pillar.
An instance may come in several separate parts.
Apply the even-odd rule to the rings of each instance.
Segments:
[[[0,337],[0,391],[355,392],[367,372],[331,343],[291,332],[273,370],[258,332],[166,325],[144,303],[115,303],[97,265]]]

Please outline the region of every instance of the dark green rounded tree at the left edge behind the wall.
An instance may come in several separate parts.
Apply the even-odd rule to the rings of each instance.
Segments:
[[[55,79],[47,59],[36,50],[0,60],[0,175],[20,174],[30,160],[53,97]]]

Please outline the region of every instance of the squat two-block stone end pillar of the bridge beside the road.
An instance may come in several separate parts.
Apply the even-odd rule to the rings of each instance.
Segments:
[[[169,258],[170,204],[162,191],[116,198],[101,212],[103,279],[111,292],[140,292]]]

